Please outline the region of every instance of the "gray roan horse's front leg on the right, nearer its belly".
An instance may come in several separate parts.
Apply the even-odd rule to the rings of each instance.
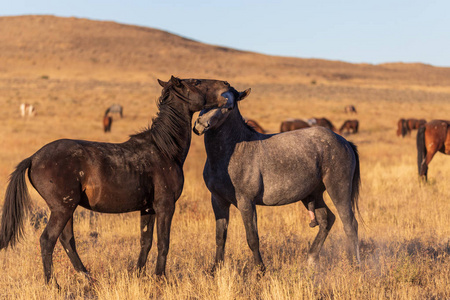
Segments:
[[[259,236],[256,216],[256,206],[251,200],[238,200],[238,209],[241,212],[242,220],[244,221],[245,232],[247,235],[247,244],[252,250],[253,260],[261,272],[265,272],[266,267],[262,261],[261,253],[259,251]]]

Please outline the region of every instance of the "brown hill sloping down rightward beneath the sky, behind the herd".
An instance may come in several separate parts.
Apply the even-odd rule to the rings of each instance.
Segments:
[[[268,56],[199,43],[161,30],[54,16],[0,18],[0,76],[245,83],[449,86],[450,68],[350,64]]]

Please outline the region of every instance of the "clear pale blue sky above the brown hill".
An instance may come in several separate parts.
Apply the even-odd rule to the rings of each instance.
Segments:
[[[269,55],[450,67],[448,0],[2,2],[0,16],[48,14],[115,21]]]

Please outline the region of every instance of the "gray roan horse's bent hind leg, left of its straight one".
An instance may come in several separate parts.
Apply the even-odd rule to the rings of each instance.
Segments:
[[[316,196],[309,196],[303,201],[303,203],[314,201],[316,220],[317,223],[319,223],[319,232],[317,233],[316,238],[314,239],[311,248],[308,251],[308,263],[310,265],[314,265],[317,263],[323,243],[325,242],[325,239],[327,238],[328,233],[330,232],[331,227],[336,220],[334,214],[323,201],[322,193],[323,191],[320,191],[320,193],[318,193]]]

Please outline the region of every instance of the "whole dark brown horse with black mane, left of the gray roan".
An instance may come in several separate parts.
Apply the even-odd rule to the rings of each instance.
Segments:
[[[235,93],[227,82],[219,80],[172,76],[159,84],[163,90],[151,128],[128,141],[57,140],[19,163],[6,190],[0,249],[14,246],[22,236],[24,216],[31,206],[25,182],[28,169],[30,183],[51,211],[40,238],[47,283],[53,277],[52,254],[58,238],[75,270],[89,278],[75,249],[73,212],[77,206],[103,213],[141,212],[139,271],[144,269],[152,246],[156,220],[155,273],[165,274],[170,225],[184,184],[192,116],[204,108],[225,105]]]

